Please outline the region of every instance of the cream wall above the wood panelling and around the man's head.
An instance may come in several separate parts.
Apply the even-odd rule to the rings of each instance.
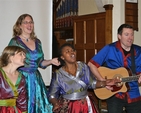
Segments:
[[[100,0],[99,0],[100,1]],[[98,6],[96,2],[98,0],[78,0],[78,15],[92,14],[98,13]],[[113,41],[117,40],[117,29],[118,27],[125,22],[125,1],[124,0],[101,0],[101,7],[105,4],[113,4]],[[139,31],[135,31],[135,40],[134,43],[137,45],[141,45],[141,0],[138,0],[138,27]]]

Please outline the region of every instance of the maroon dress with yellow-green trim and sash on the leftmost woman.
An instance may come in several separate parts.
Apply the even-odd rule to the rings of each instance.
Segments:
[[[26,113],[25,83],[24,76],[20,73],[14,85],[0,68],[0,113]]]

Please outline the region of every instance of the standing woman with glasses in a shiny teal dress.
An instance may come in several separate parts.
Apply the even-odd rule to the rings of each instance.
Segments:
[[[28,113],[52,113],[52,105],[47,99],[47,89],[38,67],[57,65],[57,58],[45,60],[41,41],[35,36],[34,21],[31,15],[21,15],[13,27],[13,38],[9,45],[26,49],[25,66],[19,68],[26,78],[28,89]]]

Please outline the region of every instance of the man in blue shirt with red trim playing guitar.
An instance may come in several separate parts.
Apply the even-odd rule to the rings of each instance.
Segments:
[[[103,47],[88,62],[88,66],[98,80],[105,80],[98,71],[98,68],[104,64],[110,69],[117,69],[120,67],[129,68],[132,71],[134,70],[136,75],[141,75],[141,47],[133,44],[133,27],[128,24],[122,24],[117,32],[118,41]],[[133,50],[134,55],[131,55],[131,50]],[[134,57],[133,61],[135,66],[132,66],[131,56]],[[126,108],[127,113],[141,113],[141,94],[138,86],[138,82],[140,83],[140,81],[141,77],[138,81],[128,82],[130,89],[127,92],[118,92],[114,96],[108,98],[106,100],[108,113],[122,113],[123,107]],[[112,87],[106,88],[108,90]]]

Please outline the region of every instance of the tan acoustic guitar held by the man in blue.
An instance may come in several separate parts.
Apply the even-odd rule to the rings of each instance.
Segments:
[[[120,67],[117,69],[99,67],[98,70],[102,77],[105,79],[113,79],[116,77],[120,77],[122,81],[122,83],[112,86],[113,90],[108,90],[107,88],[94,89],[95,95],[101,100],[108,99],[109,97],[113,96],[118,92],[126,92],[128,90],[126,82],[137,81],[140,76],[140,75],[132,76],[130,69],[126,69],[124,67]]]

